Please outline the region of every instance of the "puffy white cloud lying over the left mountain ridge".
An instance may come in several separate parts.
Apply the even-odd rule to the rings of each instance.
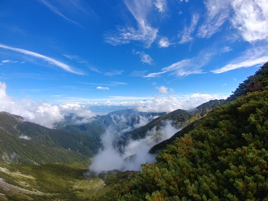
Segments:
[[[24,117],[26,121],[39,124],[47,128],[54,128],[54,124],[64,120],[69,112],[74,112],[76,117],[81,117],[84,122],[90,121],[96,114],[91,112],[85,104],[65,103],[53,105],[46,101],[30,101],[28,99],[12,98],[6,94],[5,83],[0,82],[0,111],[17,114]],[[25,139],[25,138],[24,138]]]

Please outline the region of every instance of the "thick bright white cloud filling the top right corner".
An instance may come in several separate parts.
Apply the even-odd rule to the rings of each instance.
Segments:
[[[234,17],[231,22],[246,41],[268,40],[267,0],[231,1]]]

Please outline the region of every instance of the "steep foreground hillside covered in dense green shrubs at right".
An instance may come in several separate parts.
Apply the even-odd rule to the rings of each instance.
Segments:
[[[268,201],[268,63],[102,201]]]

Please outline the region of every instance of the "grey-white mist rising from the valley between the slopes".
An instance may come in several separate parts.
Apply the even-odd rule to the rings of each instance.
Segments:
[[[99,174],[102,171],[113,169],[121,171],[141,170],[141,164],[155,162],[154,155],[149,154],[149,150],[179,131],[171,126],[171,122],[166,122],[165,126],[159,130],[156,128],[149,130],[144,139],[129,140],[126,146],[121,147],[120,151],[115,146],[116,141],[130,131],[129,126],[126,126],[126,119],[121,118],[121,120],[107,128],[102,136],[104,148],[94,157],[90,171]]]

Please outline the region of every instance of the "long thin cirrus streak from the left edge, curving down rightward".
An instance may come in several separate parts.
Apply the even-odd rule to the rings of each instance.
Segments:
[[[10,47],[10,46],[3,45],[3,44],[0,44],[0,48],[6,49],[6,50],[12,50],[12,51],[15,51],[15,52],[22,53],[24,55],[30,55],[30,56],[33,56],[33,57],[36,57],[36,58],[43,59],[46,62],[48,62],[49,64],[57,66],[57,67],[65,70],[67,72],[70,72],[70,73],[75,73],[75,74],[79,74],[79,75],[84,74],[84,73],[77,72],[77,71],[73,70],[71,66],[68,66],[67,64],[64,64],[64,63],[62,63],[60,61],[57,61],[56,59],[50,58],[48,56],[40,55],[40,54],[35,53],[35,52],[31,52],[31,51],[28,51],[28,50],[23,50],[23,49],[20,49],[20,48],[14,48],[14,47]]]

